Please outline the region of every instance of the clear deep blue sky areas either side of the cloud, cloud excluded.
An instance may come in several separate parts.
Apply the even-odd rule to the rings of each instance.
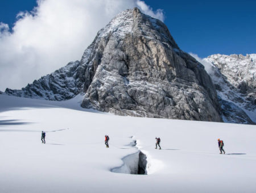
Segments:
[[[162,9],[177,44],[185,52],[256,53],[256,1],[145,1]],[[35,0],[1,0],[0,22],[13,26],[19,11],[32,10]]]

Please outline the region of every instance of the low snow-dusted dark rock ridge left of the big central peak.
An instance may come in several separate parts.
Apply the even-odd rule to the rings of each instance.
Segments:
[[[71,99],[81,91],[83,82],[80,69],[79,61],[69,62],[67,66],[28,84],[22,90],[7,88],[5,94],[46,100]]]

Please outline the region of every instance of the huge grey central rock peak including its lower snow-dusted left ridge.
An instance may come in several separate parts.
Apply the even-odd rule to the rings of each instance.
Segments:
[[[84,93],[84,108],[117,115],[222,121],[204,66],[180,50],[168,28],[137,8],[97,33],[80,62],[6,94],[66,100]]]

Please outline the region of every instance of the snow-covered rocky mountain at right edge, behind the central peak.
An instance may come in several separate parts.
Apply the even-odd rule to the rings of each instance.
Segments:
[[[217,89],[223,119],[230,123],[256,123],[256,54],[214,54],[204,58]]]

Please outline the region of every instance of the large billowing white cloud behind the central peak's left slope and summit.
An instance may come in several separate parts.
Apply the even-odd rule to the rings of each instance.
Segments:
[[[19,12],[10,32],[0,23],[0,90],[20,89],[69,61],[80,60],[96,33],[119,12],[139,7],[163,20],[139,0],[38,0],[31,12]]]

